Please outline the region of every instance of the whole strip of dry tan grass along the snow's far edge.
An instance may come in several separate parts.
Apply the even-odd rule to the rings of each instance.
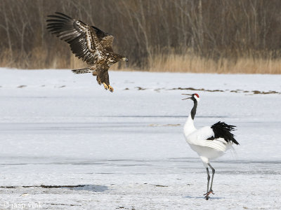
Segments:
[[[61,55],[58,57],[58,55]],[[27,55],[10,55],[8,50],[0,55],[0,66],[19,69],[81,69],[88,66],[74,55],[58,53],[48,55],[41,48],[34,48]],[[270,54],[269,54],[270,55]],[[21,56],[21,57],[20,57]],[[70,56],[70,57],[69,57]],[[139,69],[130,62],[118,62],[111,70],[119,71],[161,71],[161,72],[193,72],[193,73],[273,73],[281,74],[281,59],[262,58],[261,56],[244,56],[233,59],[207,59],[192,52],[183,55],[170,52],[167,54],[155,53],[148,61],[146,69]]]

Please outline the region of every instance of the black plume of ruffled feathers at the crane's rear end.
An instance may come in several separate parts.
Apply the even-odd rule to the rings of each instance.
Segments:
[[[218,123],[211,126],[211,129],[214,131],[215,136],[213,139],[223,138],[227,142],[233,142],[234,144],[239,144],[234,138],[234,134],[231,132],[235,130],[235,125],[228,125],[224,122],[219,121]],[[209,140],[213,140],[209,139]]]

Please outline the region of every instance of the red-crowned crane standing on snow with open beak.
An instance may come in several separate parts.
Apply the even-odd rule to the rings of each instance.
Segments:
[[[197,93],[185,94],[190,97],[185,99],[191,99],[194,102],[193,108],[188,116],[183,132],[185,140],[190,145],[193,151],[195,151],[201,158],[204,167],[207,169],[207,193],[205,199],[209,200],[209,195],[213,193],[212,186],[214,180],[215,169],[211,166],[209,160],[218,158],[223,155],[233,144],[239,144],[234,135],[231,133],[234,129],[234,125],[228,125],[226,123],[218,122],[211,126],[202,127],[196,129],[194,126],[194,118],[196,114],[197,104],[200,101],[200,97]],[[183,100],[185,100],[183,99]],[[211,186],[209,188],[210,174],[208,166],[211,168]]]

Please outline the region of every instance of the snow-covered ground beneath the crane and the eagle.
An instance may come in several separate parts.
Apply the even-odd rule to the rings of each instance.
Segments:
[[[281,75],[0,69],[0,209],[281,209]],[[195,90],[190,90],[194,88]],[[204,90],[203,90],[204,89]],[[207,174],[183,137],[237,125]],[[266,94],[265,94],[266,93]]]

